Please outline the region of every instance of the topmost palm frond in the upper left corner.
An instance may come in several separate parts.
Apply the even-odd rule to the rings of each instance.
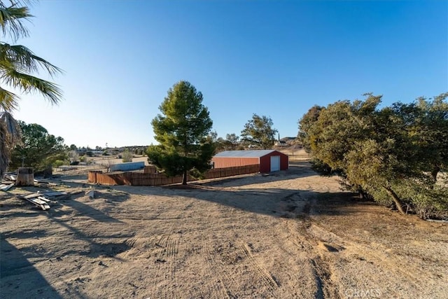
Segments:
[[[1,1],[0,27],[3,36],[9,34],[14,40],[17,40],[20,36],[28,36],[28,29],[23,21],[31,17],[33,15],[29,13],[29,8],[26,6],[18,7],[17,3],[6,6]]]

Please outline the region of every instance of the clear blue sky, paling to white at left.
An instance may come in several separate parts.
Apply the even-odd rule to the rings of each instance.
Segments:
[[[151,144],[180,80],[220,137],[253,113],[293,137],[314,104],[448,91],[448,1],[41,1],[31,13],[18,43],[64,69],[64,101],[22,97],[14,115],[68,145]]]

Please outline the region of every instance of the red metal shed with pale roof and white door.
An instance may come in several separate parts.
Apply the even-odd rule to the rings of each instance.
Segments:
[[[275,150],[223,151],[212,158],[215,168],[260,165],[260,172],[288,169],[288,155]]]

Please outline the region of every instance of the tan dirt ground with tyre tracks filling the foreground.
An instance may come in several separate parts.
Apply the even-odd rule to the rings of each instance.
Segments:
[[[85,180],[0,194],[1,298],[448,298],[446,223],[359,200],[300,159],[190,188]],[[70,196],[46,212],[15,197],[48,188]]]

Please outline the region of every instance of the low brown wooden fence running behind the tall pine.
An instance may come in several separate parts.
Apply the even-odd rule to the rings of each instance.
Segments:
[[[204,179],[216,179],[225,176],[237,176],[239,174],[255,174],[260,172],[260,165],[245,165],[237,167],[225,167],[210,169],[205,173]],[[99,183],[100,185],[132,185],[132,186],[160,186],[172,183],[182,183],[182,176],[167,177],[160,173],[142,172],[119,172],[114,174],[103,174],[101,170],[89,172],[89,183]],[[197,179],[188,176],[188,181]]]

